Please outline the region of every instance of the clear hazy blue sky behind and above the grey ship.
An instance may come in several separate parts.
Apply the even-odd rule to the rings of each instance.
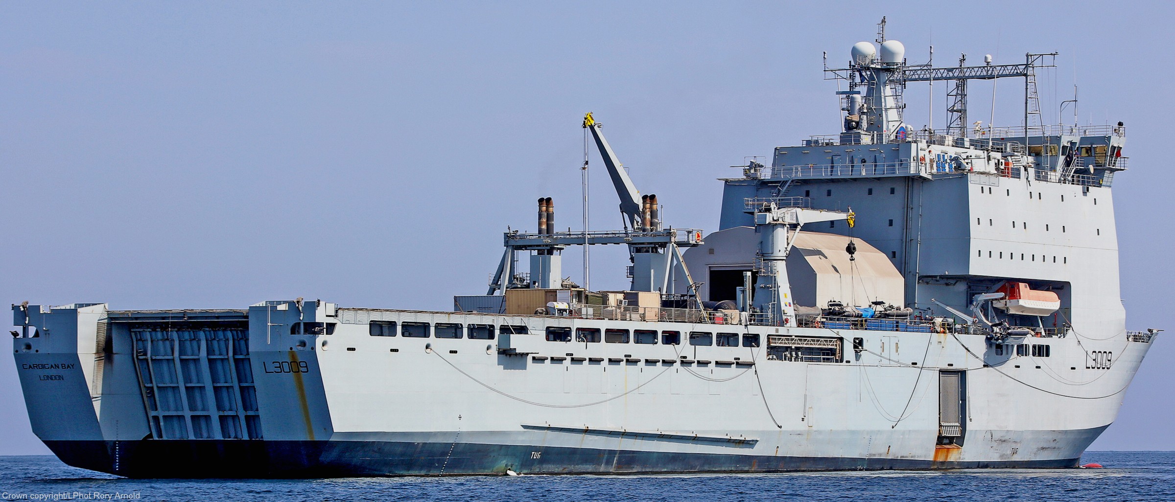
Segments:
[[[882,4],[0,2],[0,303],[448,308],[538,196],[578,226],[585,111],[669,223],[713,230],[726,167],[839,130],[821,52],[846,61],[887,15],[911,61],[1059,50],[1046,117],[1076,80],[1082,123],[1126,122],[1128,326],[1170,327],[1170,5]],[[1021,83],[1001,86],[1016,126]],[[928,100],[911,88],[907,122]],[[597,229],[619,225],[606,183]],[[593,253],[592,285],[625,284],[622,259]],[[0,454],[47,453],[0,353]],[[1094,449],[1175,449],[1173,367],[1161,338]]]

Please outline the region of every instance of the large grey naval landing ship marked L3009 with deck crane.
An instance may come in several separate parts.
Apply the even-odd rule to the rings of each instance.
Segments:
[[[1077,467],[1159,331],[1120,296],[1124,124],[1045,123],[1055,54],[907,63],[882,25],[848,55],[841,130],[737,165],[713,232],[662,222],[588,114],[623,229],[557,231],[539,197],[452,311],[13,305],[33,432],[128,477]],[[1019,128],[968,122],[994,79]],[[933,81],[948,127],[912,128]],[[595,245],[626,290],[564,277]]]

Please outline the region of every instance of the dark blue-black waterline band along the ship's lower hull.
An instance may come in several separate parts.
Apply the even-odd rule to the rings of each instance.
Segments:
[[[142,440],[47,441],[63,462],[128,477],[347,477],[503,474],[785,473],[1068,468],[1079,459],[934,462],[686,454],[451,442]]]

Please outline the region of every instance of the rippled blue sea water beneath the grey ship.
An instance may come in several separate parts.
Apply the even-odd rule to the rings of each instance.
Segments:
[[[1088,452],[1104,469],[690,476],[127,480],[53,456],[0,456],[2,500],[1175,501],[1175,452]]]

